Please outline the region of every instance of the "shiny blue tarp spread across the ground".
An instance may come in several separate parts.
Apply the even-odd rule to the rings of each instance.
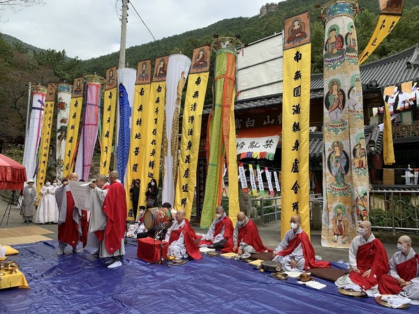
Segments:
[[[314,290],[277,281],[246,262],[204,256],[181,266],[147,264],[126,246],[122,267],[107,269],[88,250],[57,255],[57,241],[14,246],[30,290],[0,291],[0,313],[395,313],[373,298],[346,297],[331,282]],[[403,313],[418,313],[410,306]]]

